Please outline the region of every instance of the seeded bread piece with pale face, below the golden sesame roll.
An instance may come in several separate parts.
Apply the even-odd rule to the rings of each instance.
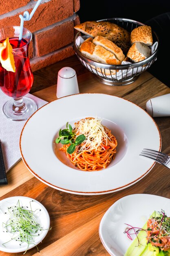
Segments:
[[[151,49],[143,43],[133,43],[128,50],[127,57],[133,62],[143,61],[150,56]]]

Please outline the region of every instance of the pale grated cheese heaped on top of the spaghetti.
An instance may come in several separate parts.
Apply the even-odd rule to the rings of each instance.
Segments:
[[[106,140],[107,145],[107,139],[109,139],[102,125],[102,119],[91,117],[82,119],[75,124],[74,132],[76,136],[84,134],[86,137],[79,151],[95,150],[103,140]]]

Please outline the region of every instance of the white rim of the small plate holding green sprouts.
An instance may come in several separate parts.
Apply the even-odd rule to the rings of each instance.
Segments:
[[[9,249],[9,248],[6,248],[6,247],[3,247],[0,245],[0,251],[2,252],[8,252],[8,253],[19,253],[19,252],[25,252],[26,249],[29,250],[29,249],[32,249],[33,247],[35,247],[36,245],[38,245],[39,243],[41,243],[41,241],[45,238],[45,236],[47,235],[48,231],[49,231],[49,227],[50,227],[50,216],[49,216],[49,213],[48,211],[46,210],[46,208],[44,207],[44,205],[42,203],[40,203],[38,200],[36,199],[33,199],[33,198],[29,198],[29,197],[26,197],[26,196],[12,196],[12,197],[9,197],[9,198],[4,198],[2,200],[0,200],[0,203],[4,203],[4,202],[8,202],[8,201],[18,201],[18,200],[26,200],[28,202],[30,201],[35,201],[36,204],[39,205],[41,211],[44,212],[45,216],[46,216],[46,227],[44,227],[46,230],[44,230],[41,234],[41,239],[35,241],[34,244],[30,244],[29,247],[27,247],[27,245],[25,247],[18,247],[18,249]],[[12,203],[12,202],[11,202]],[[10,243],[10,242],[9,242]]]

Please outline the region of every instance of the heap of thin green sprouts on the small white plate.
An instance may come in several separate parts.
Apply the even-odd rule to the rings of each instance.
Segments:
[[[33,201],[34,200],[31,202]],[[35,219],[36,214],[38,214],[41,209],[36,209],[33,211],[31,202],[30,209],[27,206],[21,206],[20,200],[18,200],[15,206],[8,207],[8,211],[5,212],[5,214],[9,214],[9,220],[7,223],[2,223],[4,230],[13,234],[11,240],[19,241],[20,245],[24,242],[27,243],[27,249],[31,244],[35,245],[34,237],[40,236],[41,232],[45,230]],[[51,230],[51,227],[49,227],[49,230]],[[7,241],[6,243],[9,243],[11,240]],[[3,243],[3,245],[6,243]]]

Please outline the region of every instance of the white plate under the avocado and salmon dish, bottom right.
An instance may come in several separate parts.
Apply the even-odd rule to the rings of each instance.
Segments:
[[[108,253],[112,256],[124,256],[132,243],[127,234],[124,234],[126,227],[131,225],[142,228],[150,215],[161,209],[170,216],[170,199],[134,194],[117,200],[106,211],[99,225],[99,236]],[[135,237],[134,235],[132,238]]]

